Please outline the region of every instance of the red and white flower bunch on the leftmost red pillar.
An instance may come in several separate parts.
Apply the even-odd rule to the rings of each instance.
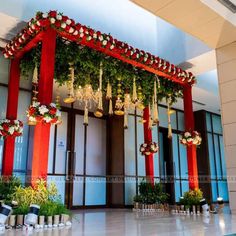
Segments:
[[[18,137],[23,134],[23,123],[20,120],[0,120],[0,137]]]

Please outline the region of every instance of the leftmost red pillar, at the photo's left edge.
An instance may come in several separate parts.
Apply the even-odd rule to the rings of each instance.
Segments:
[[[20,82],[20,61],[12,59],[10,66],[10,75],[8,83],[7,113],[6,118],[15,120],[17,118],[18,96]],[[15,138],[8,137],[4,140],[2,175],[10,176],[13,172],[15,151]]]

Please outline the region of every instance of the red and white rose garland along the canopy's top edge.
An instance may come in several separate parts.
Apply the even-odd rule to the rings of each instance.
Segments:
[[[162,58],[156,57],[148,52],[133,48],[127,43],[114,39],[111,35],[101,33],[87,26],[75,23],[73,19],[57,12],[38,12],[26,27],[10,41],[4,50],[6,58],[12,58],[26,45],[32,38],[48,27],[52,27],[62,36],[65,34],[74,41],[90,44],[91,47],[100,47],[118,53],[124,58],[131,59],[152,69],[162,71],[171,77],[176,77],[184,83],[195,83],[195,77],[191,72],[182,70]]]

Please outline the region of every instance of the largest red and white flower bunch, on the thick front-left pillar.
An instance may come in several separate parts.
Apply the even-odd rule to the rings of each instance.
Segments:
[[[55,103],[41,105],[39,102],[33,102],[26,113],[30,122],[47,124],[59,124],[61,122],[61,112]]]

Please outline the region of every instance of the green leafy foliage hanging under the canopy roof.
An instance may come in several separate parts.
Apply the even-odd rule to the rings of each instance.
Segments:
[[[40,66],[41,45],[26,53],[21,60],[21,72],[27,75],[32,71],[35,63]],[[88,47],[79,46],[75,42],[68,42],[57,38],[56,56],[55,56],[55,80],[60,84],[65,84],[69,79],[69,63],[75,67],[74,86],[83,86],[90,83],[93,89],[98,88],[99,66],[103,63],[103,90],[106,90],[106,84],[109,81],[113,87],[113,96],[117,95],[117,78],[121,78],[122,93],[132,92],[133,77],[136,78],[137,87],[141,86],[144,103],[151,102],[153,96],[155,75],[136,68],[128,63],[124,63],[116,58],[109,57],[103,53]],[[160,89],[158,89],[158,99],[171,97],[172,103],[176,102],[178,97],[182,97],[182,87],[170,80],[160,79]]]

